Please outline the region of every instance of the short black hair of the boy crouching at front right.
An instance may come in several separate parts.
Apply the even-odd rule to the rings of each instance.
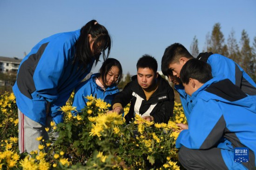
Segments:
[[[198,59],[189,59],[182,67],[180,72],[181,81],[189,84],[189,78],[205,83],[212,78],[211,66]]]

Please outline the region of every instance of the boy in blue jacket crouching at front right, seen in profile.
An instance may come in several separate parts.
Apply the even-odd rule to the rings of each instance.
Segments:
[[[223,76],[212,78],[211,67],[197,59],[187,61],[180,73],[194,103],[189,126],[176,140],[182,165],[193,170],[255,167],[256,96],[248,96]],[[246,148],[247,157],[235,159],[239,148]]]

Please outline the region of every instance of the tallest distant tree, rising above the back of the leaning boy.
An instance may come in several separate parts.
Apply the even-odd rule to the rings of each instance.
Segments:
[[[224,56],[228,55],[227,46],[224,44],[224,35],[221,32],[221,24],[216,23],[213,26],[211,33],[211,38],[209,39],[209,47],[207,48],[208,52],[219,53]]]

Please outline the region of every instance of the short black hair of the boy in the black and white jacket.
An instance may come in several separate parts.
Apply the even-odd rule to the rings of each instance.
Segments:
[[[137,71],[139,68],[150,68],[155,73],[157,72],[157,61],[154,57],[144,54],[137,62]]]

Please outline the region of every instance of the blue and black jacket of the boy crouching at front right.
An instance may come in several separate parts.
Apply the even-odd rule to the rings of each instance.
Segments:
[[[256,166],[256,95],[247,96],[229,79],[222,78],[209,80],[192,94],[189,129],[180,133],[176,147],[217,147],[230,170],[251,169]],[[249,148],[248,163],[234,161],[235,147]]]

